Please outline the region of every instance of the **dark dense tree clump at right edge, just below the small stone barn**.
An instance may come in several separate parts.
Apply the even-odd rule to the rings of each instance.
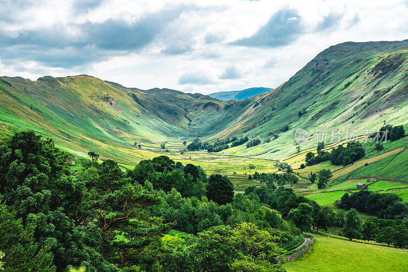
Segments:
[[[408,207],[395,193],[377,193],[361,190],[351,195],[345,193],[336,202],[339,208],[354,208],[360,212],[376,214],[380,218],[400,219],[408,216]]]

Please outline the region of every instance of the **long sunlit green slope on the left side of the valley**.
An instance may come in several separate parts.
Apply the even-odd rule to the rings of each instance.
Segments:
[[[3,125],[57,137],[75,150],[212,135],[250,106],[228,108],[202,94],[129,89],[86,75],[2,77],[0,101]]]

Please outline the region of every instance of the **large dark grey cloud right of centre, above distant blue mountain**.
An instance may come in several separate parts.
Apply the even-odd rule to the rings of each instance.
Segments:
[[[279,10],[255,34],[231,44],[249,47],[278,47],[290,44],[303,30],[300,20],[300,15],[294,10]]]

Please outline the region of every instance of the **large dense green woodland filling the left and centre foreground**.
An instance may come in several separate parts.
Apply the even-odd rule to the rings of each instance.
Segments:
[[[0,152],[6,271],[281,271],[275,257],[299,233],[258,195],[234,196],[226,177],[166,156],[125,174],[32,131],[3,139]]]

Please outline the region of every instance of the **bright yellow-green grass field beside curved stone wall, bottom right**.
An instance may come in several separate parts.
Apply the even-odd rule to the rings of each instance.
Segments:
[[[408,252],[320,236],[306,254],[282,267],[288,272],[408,271]]]

